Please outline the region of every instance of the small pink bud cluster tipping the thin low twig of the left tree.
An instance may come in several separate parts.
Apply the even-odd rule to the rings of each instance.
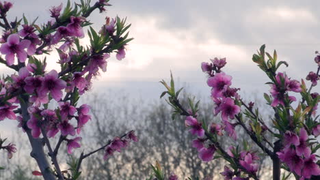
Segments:
[[[134,142],[138,141],[134,131],[127,133],[126,136],[121,138],[115,137],[110,141],[109,145],[105,147],[105,155],[103,155],[103,159],[107,160],[107,158],[114,155],[115,151],[121,152],[121,149],[126,148],[131,140],[133,140]]]

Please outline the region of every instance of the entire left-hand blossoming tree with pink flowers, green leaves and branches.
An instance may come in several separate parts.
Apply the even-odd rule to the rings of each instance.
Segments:
[[[18,127],[29,138],[44,139],[55,166],[55,176],[59,179],[64,175],[56,160],[57,150],[62,142],[66,142],[68,153],[81,147],[81,130],[92,119],[90,106],[78,105],[80,95],[90,90],[94,77],[101,71],[106,72],[107,59],[112,52],[116,52],[116,59],[124,59],[125,46],[132,40],[127,38],[130,25],[126,25],[125,20],[116,17],[110,22],[108,17],[99,33],[90,27],[90,46],[81,46],[79,39],[85,36],[83,27],[91,25],[88,16],[95,9],[104,12],[105,6],[110,5],[108,1],[98,0],[94,5],[90,5],[90,1],[81,1],[75,3],[75,7],[68,1],[64,10],[62,4],[51,7],[51,20],[41,26],[35,24],[36,20],[28,23],[25,17],[8,23],[6,13],[12,3],[0,2],[0,27],[5,29],[0,38],[0,52],[5,56],[0,57],[0,63],[18,72],[0,78],[0,121],[17,120]],[[36,55],[49,54],[53,50],[59,54],[57,63],[61,71],[48,70],[46,58],[36,58]],[[52,149],[49,138],[55,138],[57,134],[59,142]],[[110,144],[102,148],[105,148],[105,159],[114,151],[127,147],[130,140],[137,141],[133,131],[110,140]],[[33,142],[42,143],[40,140]],[[33,142],[31,146],[34,146]],[[13,144],[1,149],[8,151],[9,157],[16,151]],[[37,152],[40,151],[43,149]],[[37,158],[46,158],[34,157],[37,161]],[[54,176],[47,170],[49,164],[39,164],[39,167],[44,178]]]

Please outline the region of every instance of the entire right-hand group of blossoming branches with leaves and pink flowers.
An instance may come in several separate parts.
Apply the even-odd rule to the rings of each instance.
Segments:
[[[265,55],[269,60],[265,59]],[[311,87],[307,89],[304,80],[300,83],[298,80],[292,80],[285,73],[277,72],[280,65],[288,64],[285,61],[277,63],[276,51],[274,57],[271,57],[269,53],[265,52],[265,46],[261,46],[258,55],[253,55],[252,60],[258,63],[258,67],[272,81],[267,82],[271,85],[271,95],[265,93],[265,100],[275,111],[272,122],[278,132],[271,130],[259,117],[258,109],[253,109],[253,102],[248,105],[243,102],[237,93],[239,88],[230,87],[232,77],[222,72],[222,67],[226,65],[225,58],[211,59],[211,63],[204,62],[201,65],[202,71],[209,76],[207,84],[212,87],[211,98],[215,103],[213,111],[215,115],[221,112],[221,124],[211,123],[208,127],[206,121],[198,121],[198,103],[194,106],[191,100],[189,100],[191,110],[185,110],[178,101],[178,93],[181,90],[174,92],[173,79],[170,83],[171,87],[164,80],[161,82],[168,89],[163,94],[168,93],[170,95],[169,104],[176,108],[174,115],[179,113],[187,116],[185,125],[189,127],[191,134],[198,136],[192,141],[192,146],[198,150],[200,159],[209,162],[213,160],[213,154],[217,152],[219,153],[217,157],[222,156],[227,162],[230,162],[230,167],[234,170],[225,166],[224,172],[220,173],[224,176],[224,179],[258,179],[256,173],[259,158],[256,151],[251,151],[248,147],[239,151],[239,146],[237,148],[229,147],[227,151],[224,151],[218,142],[217,136],[223,136],[223,132],[236,140],[236,125],[241,125],[257,147],[260,147],[263,153],[269,155],[274,163],[274,168],[279,168],[279,161],[281,161],[285,165],[285,169],[293,172],[296,177],[310,179],[313,176],[320,175],[316,153],[319,149],[319,142],[312,142],[316,139],[308,138],[308,136],[317,137],[320,134],[320,124],[316,117],[319,93],[311,93],[312,87],[315,87],[319,80],[319,59],[320,55],[318,54],[315,58],[318,67],[317,72],[310,72],[306,77],[306,80],[311,81]],[[297,99],[295,96],[289,95],[291,92],[302,95],[302,101],[299,102],[295,110],[293,110],[291,103]],[[243,106],[243,110],[241,110],[241,106]],[[312,115],[315,119],[312,118]],[[246,122],[243,117],[248,118]],[[232,121],[232,119],[235,120]],[[247,123],[249,123],[249,126]],[[297,130],[300,131],[299,136],[295,133]],[[265,137],[266,132],[271,132],[271,135],[278,140],[271,144]],[[278,171],[274,170],[274,176],[280,177],[280,168]]]

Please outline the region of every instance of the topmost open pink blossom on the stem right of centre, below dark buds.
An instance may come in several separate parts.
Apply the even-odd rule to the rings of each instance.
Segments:
[[[213,97],[222,97],[222,91],[226,86],[231,85],[231,76],[224,74],[224,72],[220,72],[215,74],[215,76],[208,78],[208,85],[212,87],[211,95]]]

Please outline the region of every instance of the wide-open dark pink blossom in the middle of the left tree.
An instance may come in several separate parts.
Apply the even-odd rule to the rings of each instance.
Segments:
[[[62,97],[62,89],[66,87],[66,82],[58,78],[58,74],[55,70],[51,70],[44,76],[44,80],[41,87],[41,93],[46,94],[50,91],[53,99],[59,101]]]

